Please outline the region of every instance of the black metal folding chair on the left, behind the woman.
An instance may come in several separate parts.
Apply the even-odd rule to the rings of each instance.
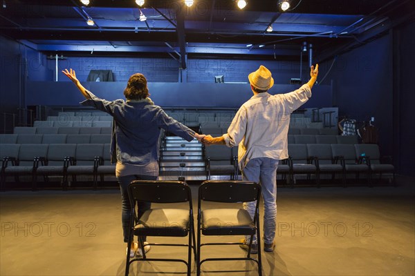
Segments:
[[[183,262],[187,266],[187,275],[191,273],[192,249],[196,258],[196,240],[194,235],[194,219],[192,208],[192,193],[189,186],[181,181],[146,181],[135,180],[129,185],[129,198],[131,201],[131,220],[129,228],[127,263],[125,275],[129,274],[129,266],[137,261],[160,261],[160,262]],[[141,217],[136,216],[137,201],[147,201],[157,204],[172,204],[189,202],[189,208],[151,208]],[[148,258],[145,250],[142,257],[130,259],[131,244],[133,236],[138,236],[140,248],[144,248],[142,236],[157,237],[189,237],[188,244],[157,244],[149,243],[150,246],[187,246],[188,256],[185,259]]]

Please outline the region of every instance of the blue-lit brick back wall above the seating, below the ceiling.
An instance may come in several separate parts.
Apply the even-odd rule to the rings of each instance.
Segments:
[[[252,61],[241,59],[187,59],[187,82],[212,83],[214,76],[223,75],[225,82],[247,82],[248,74],[263,64],[273,72],[275,83],[290,83],[299,77],[299,62]],[[55,59],[47,66],[55,72]],[[149,82],[178,82],[178,62],[172,58],[139,57],[66,57],[58,61],[59,81],[68,81],[60,74],[64,68],[73,68],[80,81],[86,81],[90,70],[112,70],[115,81],[127,82],[133,73],[141,72]],[[52,81],[54,79],[44,79]]]

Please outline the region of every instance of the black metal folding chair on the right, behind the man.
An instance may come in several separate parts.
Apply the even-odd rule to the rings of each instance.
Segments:
[[[205,181],[199,187],[198,218],[197,218],[197,275],[201,274],[201,264],[208,261],[238,261],[252,260],[258,264],[258,274],[262,275],[261,239],[259,236],[259,198],[261,186],[249,181]],[[203,201],[215,201],[222,204],[219,208],[202,208]],[[255,216],[252,219],[243,208],[226,208],[227,204],[237,202],[257,201]],[[241,242],[204,243],[201,244],[201,234],[205,236],[221,235],[250,235],[248,255],[246,257],[220,257],[201,259],[201,247],[208,245],[239,245]],[[258,259],[250,256],[252,237],[257,234]]]

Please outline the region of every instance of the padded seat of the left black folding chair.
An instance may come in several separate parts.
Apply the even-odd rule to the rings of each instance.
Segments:
[[[185,237],[189,230],[189,218],[189,210],[185,209],[150,209],[134,226],[134,235]]]

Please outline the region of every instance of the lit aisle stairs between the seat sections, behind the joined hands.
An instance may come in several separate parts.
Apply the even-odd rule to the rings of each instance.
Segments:
[[[160,180],[205,180],[202,144],[196,139],[166,136],[160,159]]]

